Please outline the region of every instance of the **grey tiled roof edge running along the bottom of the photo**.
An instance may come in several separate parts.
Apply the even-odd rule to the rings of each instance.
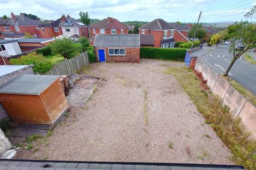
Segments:
[[[48,164],[48,167],[44,165]],[[50,166],[50,167],[49,167]],[[169,164],[169,163],[121,163],[121,162],[75,162],[75,161],[47,161],[47,160],[15,160],[0,159],[1,170],[223,170],[244,169],[233,165],[205,165],[205,164]]]

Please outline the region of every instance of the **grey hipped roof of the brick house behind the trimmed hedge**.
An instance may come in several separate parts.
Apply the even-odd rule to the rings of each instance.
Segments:
[[[168,29],[175,29],[171,24],[164,21],[163,19],[155,19],[143,26],[141,26],[139,29],[142,30],[168,30]]]

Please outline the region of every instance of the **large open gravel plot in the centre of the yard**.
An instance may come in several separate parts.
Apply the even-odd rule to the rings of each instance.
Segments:
[[[177,80],[163,74],[167,66],[182,65],[157,60],[91,64],[91,74],[103,81],[85,107],[72,108],[39,151],[20,150],[16,157],[234,164]]]

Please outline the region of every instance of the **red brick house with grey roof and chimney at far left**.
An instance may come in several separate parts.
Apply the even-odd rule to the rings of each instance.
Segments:
[[[11,13],[11,17],[3,21],[0,21],[1,32],[14,32],[14,33],[29,33],[35,38],[40,37],[39,25],[41,23],[37,20],[28,18],[24,14],[14,15]]]

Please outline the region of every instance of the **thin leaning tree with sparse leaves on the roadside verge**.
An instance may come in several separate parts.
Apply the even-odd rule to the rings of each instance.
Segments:
[[[239,57],[241,57],[247,50],[255,47],[256,25],[247,21],[236,22],[233,25],[229,25],[227,28],[227,38],[232,41],[229,47],[229,52],[233,54],[233,60],[228,66],[224,76],[228,76],[228,72]],[[242,41],[239,45],[243,46],[243,49],[236,50],[238,40]]]

